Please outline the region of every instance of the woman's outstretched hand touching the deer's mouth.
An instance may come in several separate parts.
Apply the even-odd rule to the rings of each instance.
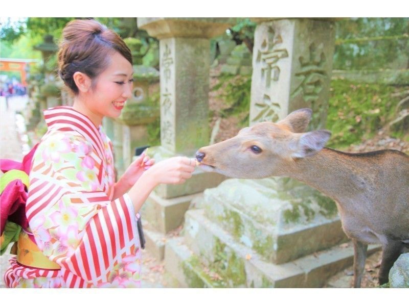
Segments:
[[[196,159],[173,157],[156,163],[146,171],[156,184],[182,184],[192,176]]]

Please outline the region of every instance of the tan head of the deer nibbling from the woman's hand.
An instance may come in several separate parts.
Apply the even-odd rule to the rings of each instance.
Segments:
[[[320,151],[331,133],[305,132],[311,109],[299,109],[277,122],[262,122],[242,129],[237,136],[200,148],[196,153],[205,171],[242,179],[286,175],[300,158]]]

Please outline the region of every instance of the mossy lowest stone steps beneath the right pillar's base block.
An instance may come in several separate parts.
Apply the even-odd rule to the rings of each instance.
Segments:
[[[317,288],[353,263],[353,248],[340,246],[280,265],[263,261],[202,209],[186,213],[185,234],[165,246],[165,268],[184,287]],[[370,245],[368,253],[379,249]]]

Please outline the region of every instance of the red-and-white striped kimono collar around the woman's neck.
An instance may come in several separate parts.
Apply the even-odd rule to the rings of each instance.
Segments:
[[[74,130],[90,141],[100,156],[104,156],[104,142],[99,129],[84,114],[70,106],[59,106],[43,111],[48,130],[71,131]]]

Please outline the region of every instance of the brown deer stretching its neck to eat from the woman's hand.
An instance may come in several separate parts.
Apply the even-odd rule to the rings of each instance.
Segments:
[[[409,244],[409,156],[393,149],[345,153],[324,147],[328,130],[306,132],[312,110],[259,122],[201,147],[198,166],[238,179],[287,176],[332,198],[353,242],[353,287],[360,288],[369,244],[381,244],[379,284]]]

